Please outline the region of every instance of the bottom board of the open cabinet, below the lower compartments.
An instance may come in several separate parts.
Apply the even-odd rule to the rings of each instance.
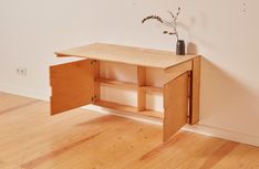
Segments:
[[[164,118],[164,114],[160,112],[155,112],[151,109],[137,110],[137,107],[122,105],[122,104],[107,102],[107,101],[97,101],[94,103],[94,105],[111,108],[111,109],[122,110],[122,112],[134,113],[138,115],[145,115],[145,116],[155,117],[155,118]]]

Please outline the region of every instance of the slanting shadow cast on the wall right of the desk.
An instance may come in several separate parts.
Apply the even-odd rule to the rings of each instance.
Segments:
[[[258,91],[205,57],[201,60],[200,103],[200,124],[259,136]]]

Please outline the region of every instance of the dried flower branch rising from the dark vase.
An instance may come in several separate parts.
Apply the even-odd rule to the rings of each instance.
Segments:
[[[177,19],[180,14],[180,8],[178,7],[178,10],[176,12],[176,14],[174,14],[172,11],[168,11],[168,13],[170,14],[170,17],[173,18],[172,21],[166,21],[163,20],[159,15],[148,15],[146,18],[144,18],[142,20],[142,23],[145,23],[147,20],[156,20],[158,22],[160,22],[162,24],[168,27],[170,29],[170,31],[163,31],[164,34],[168,34],[168,35],[176,35],[177,41],[179,40],[179,35],[177,32]]]

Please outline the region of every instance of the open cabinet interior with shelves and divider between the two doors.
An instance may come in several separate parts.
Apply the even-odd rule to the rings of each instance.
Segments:
[[[100,88],[100,96],[95,99],[95,105],[163,118],[163,107],[154,106],[155,101],[163,102],[163,81],[165,78],[163,70],[112,62],[99,62],[97,64],[99,70],[96,70],[94,81],[96,87]],[[159,83],[157,83],[158,77]],[[108,93],[115,94],[117,92],[113,91],[118,89],[120,96],[108,98]],[[135,98],[135,101],[123,98],[124,96]],[[163,105],[163,103],[158,105]]]

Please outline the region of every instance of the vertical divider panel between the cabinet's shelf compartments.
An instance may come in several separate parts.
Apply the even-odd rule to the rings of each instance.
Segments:
[[[146,91],[143,86],[146,85],[146,67],[137,66],[137,109],[146,109]]]

